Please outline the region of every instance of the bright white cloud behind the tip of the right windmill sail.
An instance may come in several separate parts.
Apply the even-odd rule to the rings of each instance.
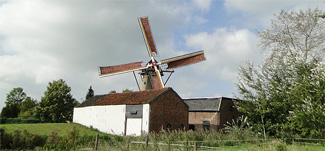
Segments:
[[[245,59],[258,60],[260,51],[256,35],[247,29],[218,28],[213,33],[201,32],[185,37],[190,48],[203,49],[207,60],[200,65],[200,73],[233,82],[237,67]]]

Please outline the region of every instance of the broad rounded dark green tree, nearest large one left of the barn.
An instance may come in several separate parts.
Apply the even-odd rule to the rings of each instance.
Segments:
[[[71,88],[62,79],[50,82],[44,97],[36,107],[35,115],[44,122],[72,120],[73,107],[78,102],[72,97]]]

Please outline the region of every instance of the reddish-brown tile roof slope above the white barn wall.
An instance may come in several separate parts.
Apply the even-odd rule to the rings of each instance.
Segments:
[[[171,88],[153,89],[137,92],[111,93],[99,99],[92,106],[96,105],[120,105],[120,104],[148,104],[159,95],[171,90]]]

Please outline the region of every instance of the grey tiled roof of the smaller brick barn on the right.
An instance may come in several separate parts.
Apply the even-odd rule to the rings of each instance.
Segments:
[[[222,98],[197,98],[197,99],[183,99],[190,107],[189,111],[214,111],[220,109]]]

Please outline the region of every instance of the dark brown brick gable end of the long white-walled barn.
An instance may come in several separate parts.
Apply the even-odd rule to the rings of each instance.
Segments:
[[[149,130],[188,129],[188,106],[174,92],[167,91],[150,105]]]

